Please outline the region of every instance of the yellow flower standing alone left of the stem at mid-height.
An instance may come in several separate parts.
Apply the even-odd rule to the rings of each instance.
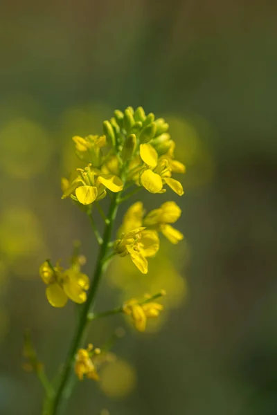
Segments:
[[[47,285],[46,297],[51,306],[64,307],[68,299],[78,304],[87,300],[89,277],[80,272],[78,262],[63,270],[58,264],[52,268],[45,261],[39,268],[39,274]]]

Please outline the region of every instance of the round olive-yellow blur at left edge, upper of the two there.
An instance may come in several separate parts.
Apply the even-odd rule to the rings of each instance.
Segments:
[[[10,176],[28,179],[46,169],[51,139],[44,127],[26,118],[8,122],[0,130],[0,164]]]

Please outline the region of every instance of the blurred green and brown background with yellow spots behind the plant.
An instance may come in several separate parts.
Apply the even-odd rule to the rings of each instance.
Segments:
[[[60,177],[78,165],[71,137],[101,133],[128,105],[170,124],[185,195],[143,201],[177,201],[186,239],[163,241],[148,276],[124,259],[109,268],[98,311],[166,288],[166,312],[143,334],[120,316],[91,325],[96,346],[117,326],[126,335],[66,414],[277,414],[276,13],[258,0],[4,0],[1,414],[41,413],[42,389],[22,369],[24,329],[52,377],[75,324],[73,304],[46,302],[39,265],[66,265],[75,239],[87,273],[96,261],[86,217],[60,199]]]

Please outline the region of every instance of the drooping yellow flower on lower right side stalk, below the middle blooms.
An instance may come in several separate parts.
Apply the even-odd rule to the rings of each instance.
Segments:
[[[123,304],[123,313],[132,317],[136,330],[145,331],[148,318],[158,317],[163,306],[156,302],[139,303],[136,298],[129,299]]]

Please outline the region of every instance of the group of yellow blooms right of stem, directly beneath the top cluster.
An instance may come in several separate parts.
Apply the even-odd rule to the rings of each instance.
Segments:
[[[148,273],[147,257],[154,257],[159,250],[159,232],[172,243],[183,239],[183,234],[170,223],[175,223],[181,216],[181,209],[173,202],[163,203],[159,209],[145,215],[142,202],[132,205],[123,218],[118,232],[119,239],[114,249],[120,257],[129,255],[141,273]]]

